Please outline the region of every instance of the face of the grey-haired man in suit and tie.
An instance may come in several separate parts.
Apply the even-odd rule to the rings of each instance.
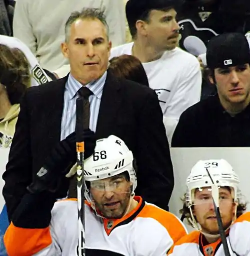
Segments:
[[[61,48],[72,76],[82,84],[98,79],[107,70],[111,43],[105,26],[97,19],[76,20]]]

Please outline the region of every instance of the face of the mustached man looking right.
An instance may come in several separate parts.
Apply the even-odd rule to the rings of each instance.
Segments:
[[[157,52],[173,50],[177,46],[179,25],[175,17],[174,9],[150,12],[149,23],[145,30],[148,44],[151,44]]]

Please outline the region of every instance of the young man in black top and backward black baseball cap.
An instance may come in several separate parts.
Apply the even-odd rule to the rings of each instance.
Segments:
[[[239,33],[212,38],[206,62],[217,94],[181,114],[172,147],[249,147],[250,50],[246,38]]]

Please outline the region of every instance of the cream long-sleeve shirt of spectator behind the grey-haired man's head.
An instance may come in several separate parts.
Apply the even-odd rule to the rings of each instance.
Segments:
[[[18,0],[13,19],[14,37],[26,44],[42,68],[54,72],[67,65],[60,44],[64,42],[64,25],[73,11],[83,7],[105,8],[109,37],[114,46],[125,43],[123,0]],[[63,76],[69,71],[67,65]]]

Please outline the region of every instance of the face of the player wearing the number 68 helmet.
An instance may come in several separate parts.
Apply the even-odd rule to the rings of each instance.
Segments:
[[[96,208],[106,218],[121,218],[129,207],[131,182],[123,174],[90,182]]]

